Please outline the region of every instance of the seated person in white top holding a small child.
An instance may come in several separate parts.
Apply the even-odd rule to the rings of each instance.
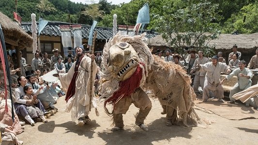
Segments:
[[[30,72],[30,71],[27,71],[27,72]],[[30,74],[30,75],[34,76],[33,74]],[[27,105],[26,105],[28,103],[31,103],[32,101],[23,99],[23,97],[26,95],[23,88],[27,85],[27,79],[24,76],[20,76],[17,79],[17,81],[18,81],[19,87],[15,89],[15,103],[14,103],[15,112],[17,115],[24,117],[30,123],[31,126],[34,126],[35,122],[30,117],[29,112],[27,110]],[[34,94],[38,94],[41,89],[43,89],[43,87],[40,87],[37,90],[35,90]],[[41,104],[41,102],[38,102],[36,106],[41,110],[44,110],[43,112],[45,113],[44,106]]]

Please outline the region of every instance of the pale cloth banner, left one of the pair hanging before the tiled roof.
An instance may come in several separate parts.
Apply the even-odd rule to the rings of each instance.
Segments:
[[[72,38],[71,38],[71,31],[70,26],[60,26],[61,31],[61,39],[63,45],[63,53],[64,56],[68,55],[68,48],[73,48]]]

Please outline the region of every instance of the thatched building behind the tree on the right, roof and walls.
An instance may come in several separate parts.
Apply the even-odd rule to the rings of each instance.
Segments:
[[[149,40],[150,47],[153,47],[153,51],[156,49],[166,50],[167,47],[173,49],[174,46],[171,46],[167,43],[162,35],[158,35]],[[219,51],[223,52],[223,57],[228,61],[228,55],[232,52],[232,46],[236,44],[238,46],[237,51],[242,53],[241,60],[245,60],[249,63],[252,56],[255,55],[255,51],[258,48],[258,33],[253,34],[220,34],[217,39],[211,40],[208,42],[208,46],[214,47],[216,53]],[[182,44],[182,47],[184,45]]]

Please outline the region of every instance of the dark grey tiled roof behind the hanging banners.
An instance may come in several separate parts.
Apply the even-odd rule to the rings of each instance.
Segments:
[[[60,27],[62,25],[70,25],[69,23],[65,22],[57,22],[57,21],[48,21],[46,27],[41,31],[41,35],[48,35],[48,36],[61,36],[61,31]],[[78,25],[78,24],[71,24],[71,25]],[[38,22],[37,22],[38,26]],[[91,30],[90,25],[82,25],[82,38],[83,39],[88,39],[89,38],[89,33]],[[21,23],[22,29],[24,29],[27,33],[31,34],[31,22],[22,22]],[[37,28],[38,29],[38,28]],[[109,39],[113,36],[113,28],[107,28],[107,27],[95,27],[95,29],[98,34],[97,34],[97,39],[99,40],[106,40]],[[146,31],[146,37],[147,38],[152,38],[158,35],[158,33],[152,32],[149,34],[149,31]],[[72,37],[73,37],[73,31],[72,31]]]

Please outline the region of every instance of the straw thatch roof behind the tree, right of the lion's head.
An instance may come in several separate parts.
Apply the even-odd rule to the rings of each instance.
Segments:
[[[239,35],[220,34],[218,39],[208,43],[210,46],[215,46],[215,49],[231,49],[234,44],[237,44],[238,48],[243,49],[256,48],[258,47],[258,33]],[[169,43],[166,43],[162,35],[158,35],[150,39],[150,45],[169,46]]]

